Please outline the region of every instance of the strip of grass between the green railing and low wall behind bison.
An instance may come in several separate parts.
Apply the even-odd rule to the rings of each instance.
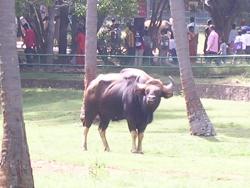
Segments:
[[[235,67],[234,67],[235,66]],[[220,67],[195,67],[193,68],[194,79],[196,83],[201,84],[230,84],[249,86],[250,84],[250,67],[241,65],[228,65]],[[99,69],[99,73],[119,72],[121,68],[109,67]],[[168,82],[168,75],[174,77],[174,80],[179,83],[178,68],[162,68],[152,67],[145,68],[145,71],[150,73],[155,78],[159,78],[164,82]],[[22,79],[38,79],[38,80],[76,80],[82,81],[82,73],[49,73],[49,72],[22,72]]]

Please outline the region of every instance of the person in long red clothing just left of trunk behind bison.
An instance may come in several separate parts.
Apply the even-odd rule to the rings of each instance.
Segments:
[[[79,28],[78,33],[76,35],[76,53],[78,54],[76,63],[80,65],[84,65],[84,54],[85,54],[85,32],[84,29]]]

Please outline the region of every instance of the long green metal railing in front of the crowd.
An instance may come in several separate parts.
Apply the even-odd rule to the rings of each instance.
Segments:
[[[24,66],[70,66],[83,67],[84,55],[77,54],[23,54],[18,55],[20,65]],[[27,62],[28,60],[28,62]],[[193,67],[249,66],[250,55],[191,56]],[[141,62],[135,64],[136,62]],[[172,56],[128,56],[97,55],[98,66],[139,66],[139,67],[178,67],[178,58]]]

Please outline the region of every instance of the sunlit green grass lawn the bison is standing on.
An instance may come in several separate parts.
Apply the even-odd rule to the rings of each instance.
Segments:
[[[189,134],[182,97],[162,100],[139,155],[130,153],[125,121],[110,124],[110,153],[103,151],[95,125],[89,151],[83,151],[81,99],[76,90],[24,90],[37,188],[250,187],[250,103],[202,100],[217,131],[202,138]]]

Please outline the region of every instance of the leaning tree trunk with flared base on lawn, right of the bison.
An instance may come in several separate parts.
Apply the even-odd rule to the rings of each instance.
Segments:
[[[191,134],[198,136],[214,136],[215,131],[213,125],[202,106],[195,88],[189,59],[188,39],[187,35],[183,34],[183,31],[186,31],[184,1],[170,0],[170,9],[174,19],[173,30]]]

